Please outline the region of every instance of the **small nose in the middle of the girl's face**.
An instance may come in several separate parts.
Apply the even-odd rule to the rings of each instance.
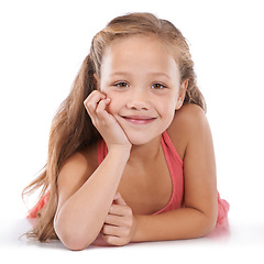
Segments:
[[[134,89],[130,95],[129,95],[129,100],[127,103],[127,107],[132,110],[148,110],[148,96],[147,92],[144,91],[143,89]]]

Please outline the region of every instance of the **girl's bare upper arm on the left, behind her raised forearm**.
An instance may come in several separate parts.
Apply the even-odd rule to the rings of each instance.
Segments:
[[[86,183],[97,166],[96,144],[76,152],[64,163],[57,178],[59,207]]]

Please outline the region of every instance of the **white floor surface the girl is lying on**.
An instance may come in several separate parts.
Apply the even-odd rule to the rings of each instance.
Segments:
[[[264,263],[264,224],[229,219],[209,238],[185,241],[132,243],[125,246],[90,246],[73,252],[57,241],[38,243],[19,238],[31,226],[26,219],[0,220],[0,252],[6,263]],[[263,222],[263,221],[262,221]],[[62,263],[62,262],[61,262]]]

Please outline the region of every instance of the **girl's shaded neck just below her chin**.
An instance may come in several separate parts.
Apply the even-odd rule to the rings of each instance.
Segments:
[[[130,158],[128,164],[146,164],[152,163],[158,156],[161,152],[162,135],[147,142],[144,145],[133,145],[130,152]]]

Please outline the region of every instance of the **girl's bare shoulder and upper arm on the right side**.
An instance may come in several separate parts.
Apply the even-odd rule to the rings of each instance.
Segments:
[[[169,130],[169,136],[184,160],[185,207],[202,211],[216,224],[216,161],[205,111],[196,105],[185,105],[175,113]]]

